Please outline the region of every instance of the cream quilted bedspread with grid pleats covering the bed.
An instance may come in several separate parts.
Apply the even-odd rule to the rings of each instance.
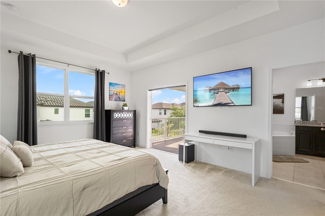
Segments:
[[[34,165],[1,177],[1,215],[86,215],[168,176],[154,156],[96,139],[32,147]]]

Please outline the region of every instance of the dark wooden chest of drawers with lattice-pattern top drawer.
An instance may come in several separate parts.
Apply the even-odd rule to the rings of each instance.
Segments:
[[[105,110],[106,140],[121,146],[136,147],[136,111]]]

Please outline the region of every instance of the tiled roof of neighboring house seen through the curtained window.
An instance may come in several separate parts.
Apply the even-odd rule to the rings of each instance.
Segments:
[[[45,95],[37,94],[37,105],[38,106],[60,106],[64,105],[64,96],[61,95]],[[91,103],[92,102],[92,103]],[[93,101],[88,103],[81,100],[77,100],[73,97],[70,97],[70,107],[93,107]]]

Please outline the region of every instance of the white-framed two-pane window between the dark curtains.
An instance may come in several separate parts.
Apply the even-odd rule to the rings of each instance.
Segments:
[[[38,63],[36,88],[39,122],[93,120],[93,73]]]

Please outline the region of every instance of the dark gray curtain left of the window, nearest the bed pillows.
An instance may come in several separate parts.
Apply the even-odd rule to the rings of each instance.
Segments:
[[[17,140],[37,145],[36,56],[18,55],[18,125]]]

